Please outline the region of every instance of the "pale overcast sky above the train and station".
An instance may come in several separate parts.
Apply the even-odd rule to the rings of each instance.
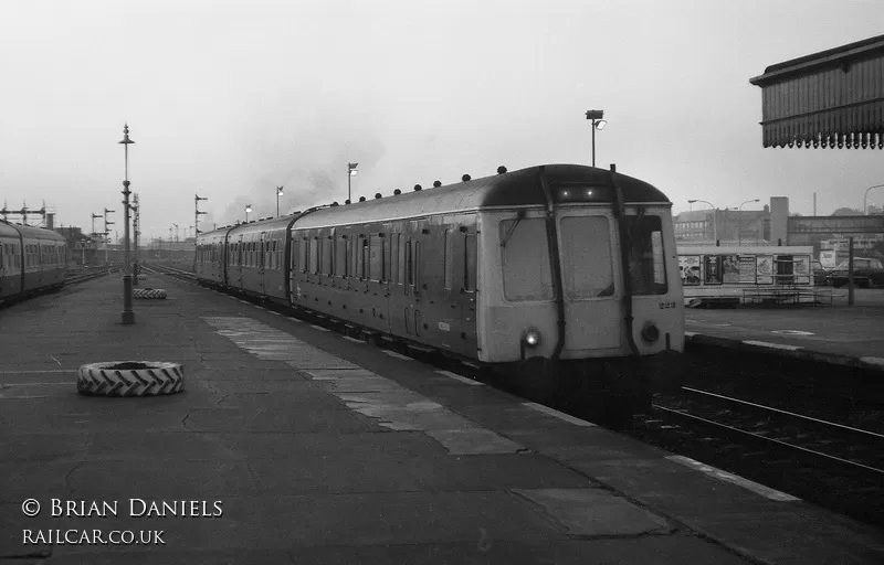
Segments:
[[[687,199],[861,207],[881,150],[765,149],[766,66],[884,33],[875,0],[8,0],[0,196],[90,230],[116,210],[123,125],[143,238],[591,160]],[[871,202],[884,201],[884,190]],[[116,216],[116,217],[114,217]],[[207,226],[201,225],[202,228]]]

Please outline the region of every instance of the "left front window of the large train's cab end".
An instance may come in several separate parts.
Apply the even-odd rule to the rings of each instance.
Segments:
[[[554,296],[549,248],[543,218],[501,222],[501,258],[507,300],[549,300]]]

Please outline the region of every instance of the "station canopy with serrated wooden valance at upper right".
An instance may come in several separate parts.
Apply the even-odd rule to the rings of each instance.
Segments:
[[[884,35],[771,65],[764,147],[884,149]]]

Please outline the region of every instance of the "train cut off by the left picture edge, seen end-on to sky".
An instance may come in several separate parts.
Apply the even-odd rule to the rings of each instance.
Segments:
[[[0,220],[0,302],[60,288],[66,274],[64,237]]]

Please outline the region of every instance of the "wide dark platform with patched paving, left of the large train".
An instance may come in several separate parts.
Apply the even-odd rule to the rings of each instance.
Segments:
[[[143,285],[168,299],[136,301],[135,326],[119,323],[118,276],[0,311],[0,558],[884,561],[884,532],[785,493],[214,291]],[[80,365],[124,360],[182,363],[186,391],[76,393]],[[151,501],[220,515],[145,516]],[[30,544],[25,530],[162,544]]]

